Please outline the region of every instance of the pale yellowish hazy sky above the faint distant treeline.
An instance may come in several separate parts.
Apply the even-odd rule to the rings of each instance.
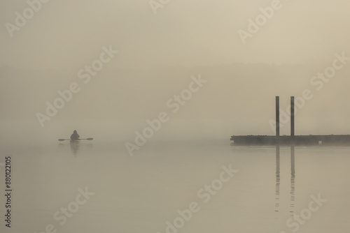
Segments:
[[[34,1],[34,0],[33,0]],[[159,2],[159,0],[155,0]],[[169,1],[153,13],[148,0],[48,1],[11,38],[27,1],[1,1],[0,64],[18,68],[76,68],[103,45],[120,51],[118,67],[211,65],[232,62],[319,63],[349,51],[350,2],[280,1],[271,19],[243,45],[260,8],[272,1]]]

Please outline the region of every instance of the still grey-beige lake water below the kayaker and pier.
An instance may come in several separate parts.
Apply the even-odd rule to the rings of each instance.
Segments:
[[[350,230],[349,147],[150,142],[130,157],[122,143],[85,141],[4,146],[1,153],[0,163],[11,155],[13,172],[12,227],[1,214],[1,232],[39,233],[48,225],[62,233]],[[218,182],[230,165],[238,172]],[[213,184],[216,190],[204,190]],[[79,188],[94,194],[83,203]],[[0,201],[5,213],[4,195]],[[196,212],[181,221],[177,211],[194,202]]]

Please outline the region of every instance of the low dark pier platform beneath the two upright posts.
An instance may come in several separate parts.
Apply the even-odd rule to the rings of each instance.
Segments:
[[[350,135],[232,136],[235,145],[349,145]]]

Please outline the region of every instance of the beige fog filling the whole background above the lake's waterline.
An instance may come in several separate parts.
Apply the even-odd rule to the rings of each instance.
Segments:
[[[349,60],[338,59],[342,68],[331,78],[313,81],[334,65],[335,54],[350,57],[349,1],[281,1],[243,41],[238,31],[249,32],[248,20],[271,6],[272,1],[169,1],[162,8],[150,1],[48,1],[11,31],[8,23],[16,25],[16,12],[23,15],[29,5],[1,1],[2,143],[57,142],[73,130],[94,140],[133,142],[135,132],[161,112],[169,120],[150,140],[273,135],[274,97],[280,96],[287,111],[290,96],[304,90],[312,98],[300,103],[295,134],[349,134]],[[101,70],[79,75],[102,52],[106,60],[106,50],[111,59]],[[206,82],[186,103],[178,110],[167,105],[199,77]],[[46,103],[53,105],[62,97],[57,91],[73,82],[79,91],[41,124],[37,114],[47,115]],[[286,122],[281,134],[289,133]]]

